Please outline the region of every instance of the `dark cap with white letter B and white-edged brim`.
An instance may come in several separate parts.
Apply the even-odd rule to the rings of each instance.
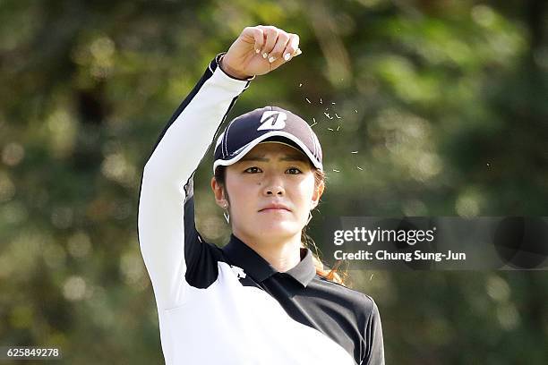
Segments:
[[[217,166],[230,166],[261,142],[276,141],[299,149],[323,170],[318,137],[303,118],[278,106],[265,106],[236,117],[218,136],[213,174]]]

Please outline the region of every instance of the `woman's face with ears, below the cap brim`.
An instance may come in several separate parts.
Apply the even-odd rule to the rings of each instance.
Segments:
[[[323,183],[315,183],[308,157],[281,143],[260,143],[227,166],[226,190],[233,233],[253,242],[283,242],[298,235],[315,208]],[[214,191],[215,184],[212,182]],[[216,191],[222,207],[224,194]],[[220,199],[219,199],[220,198]]]

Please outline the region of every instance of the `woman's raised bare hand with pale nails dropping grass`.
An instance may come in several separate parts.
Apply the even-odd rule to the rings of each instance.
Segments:
[[[277,69],[300,55],[299,36],[276,27],[247,27],[223,56],[220,67],[236,79],[247,79]]]

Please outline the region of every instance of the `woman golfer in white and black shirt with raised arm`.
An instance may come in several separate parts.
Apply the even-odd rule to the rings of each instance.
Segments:
[[[194,224],[193,174],[255,75],[298,55],[299,38],[248,27],[167,123],[144,166],[139,240],[171,364],[382,364],[372,298],[325,277],[303,230],[323,192],[321,146],[299,116],[266,106],[215,144],[211,188],[232,228],[225,247]]]

